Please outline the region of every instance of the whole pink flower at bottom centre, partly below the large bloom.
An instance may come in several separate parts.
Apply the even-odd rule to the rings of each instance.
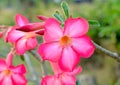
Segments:
[[[82,68],[78,67],[72,72],[64,72],[56,63],[52,63],[52,67],[55,75],[42,78],[41,85],[76,85],[75,75],[82,71]]]

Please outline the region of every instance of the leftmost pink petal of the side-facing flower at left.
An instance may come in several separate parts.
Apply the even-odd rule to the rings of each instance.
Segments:
[[[15,43],[18,39],[23,37],[25,35],[24,32],[18,31],[18,30],[12,30],[11,32],[8,33],[8,42]]]

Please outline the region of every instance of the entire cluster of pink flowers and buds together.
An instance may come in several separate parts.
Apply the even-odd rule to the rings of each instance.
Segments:
[[[81,58],[89,58],[94,45],[87,36],[89,24],[84,18],[68,18],[64,26],[54,18],[39,16],[43,22],[30,23],[27,18],[17,14],[16,26],[10,27],[5,41],[13,45],[18,55],[38,46],[42,60],[50,62],[54,75],[46,75],[40,85],[76,85],[76,74],[82,71],[78,66]],[[0,32],[2,37],[2,33]],[[36,37],[43,37],[38,45]],[[13,52],[13,51],[12,51]],[[13,54],[6,60],[0,59],[0,85],[26,85],[24,65],[13,66]]]

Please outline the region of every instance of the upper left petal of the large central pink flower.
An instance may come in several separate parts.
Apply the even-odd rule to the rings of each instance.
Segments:
[[[62,35],[63,32],[60,27],[60,23],[57,20],[53,18],[46,20],[44,33],[45,41],[58,41]]]

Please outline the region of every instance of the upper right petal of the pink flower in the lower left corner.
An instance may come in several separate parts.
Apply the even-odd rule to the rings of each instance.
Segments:
[[[24,64],[18,65],[16,67],[11,66],[10,67],[11,71],[16,73],[16,74],[25,74],[26,73],[26,68]]]

